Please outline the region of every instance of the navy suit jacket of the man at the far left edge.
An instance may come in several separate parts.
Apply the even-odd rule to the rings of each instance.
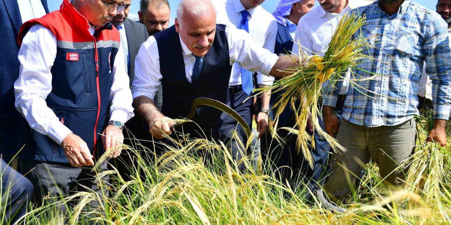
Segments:
[[[46,13],[49,12],[47,0],[41,0]],[[26,140],[25,132],[28,124],[14,107],[14,82],[19,76],[19,46],[17,34],[22,26],[17,0],[0,0],[0,32],[2,50],[0,54],[0,153],[6,162],[8,153],[15,154]],[[19,129],[21,128],[21,129]],[[24,130],[25,129],[25,130]],[[19,147],[18,147],[19,146]]]

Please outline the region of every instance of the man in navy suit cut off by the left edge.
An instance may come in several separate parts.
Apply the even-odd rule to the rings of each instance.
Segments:
[[[19,46],[17,34],[23,22],[41,17],[49,12],[46,0],[21,3],[17,0],[0,0],[0,31],[5,54],[0,54],[0,170],[2,175],[2,202],[0,218],[6,224],[14,223],[26,212],[33,185],[7,164],[25,144],[28,124],[14,107],[14,81],[19,75]],[[8,194],[6,194],[8,193]],[[8,198],[4,201],[3,198]],[[4,211],[4,209],[6,209]]]

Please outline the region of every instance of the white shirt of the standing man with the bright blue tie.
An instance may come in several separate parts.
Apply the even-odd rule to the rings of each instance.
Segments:
[[[217,0],[213,1],[216,11],[216,23],[234,26],[240,28],[242,15],[241,11],[245,10],[240,0]],[[276,44],[277,21],[274,16],[261,6],[248,9],[249,16],[249,34],[254,37],[254,41],[258,46],[268,49],[274,53]],[[257,72],[257,84],[272,85],[274,77],[262,75]],[[241,84],[241,68],[235,63],[232,66],[232,74],[230,76],[229,85],[235,86]]]

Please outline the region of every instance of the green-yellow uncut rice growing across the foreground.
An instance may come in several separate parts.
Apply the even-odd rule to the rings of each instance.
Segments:
[[[187,138],[160,157],[146,152],[130,168],[130,182],[114,169],[98,173],[112,177],[109,197],[80,192],[53,205],[30,206],[26,224],[451,224],[449,179],[434,191],[386,193],[377,166],[368,164],[345,206],[349,210],[340,214],[315,198],[304,199],[305,186],[293,190],[268,168],[257,172],[248,158],[234,162],[222,143]],[[442,167],[449,177],[451,165]],[[105,199],[100,208],[88,206],[100,198]],[[75,207],[62,215],[57,204]]]

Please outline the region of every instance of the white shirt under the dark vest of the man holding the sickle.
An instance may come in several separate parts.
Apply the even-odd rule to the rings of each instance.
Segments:
[[[261,48],[255,38],[243,30],[233,26],[226,26],[226,36],[229,45],[230,65],[235,62],[248,70],[269,76],[274,64],[279,57],[267,49]],[[196,59],[180,38],[185,73],[188,82],[191,82],[194,62]],[[150,36],[144,42],[135,60],[135,78],[133,79],[133,98],[147,96],[154,98],[158,85],[161,83],[160,57],[158,46],[154,36]],[[165,87],[163,87],[164,89]]]

